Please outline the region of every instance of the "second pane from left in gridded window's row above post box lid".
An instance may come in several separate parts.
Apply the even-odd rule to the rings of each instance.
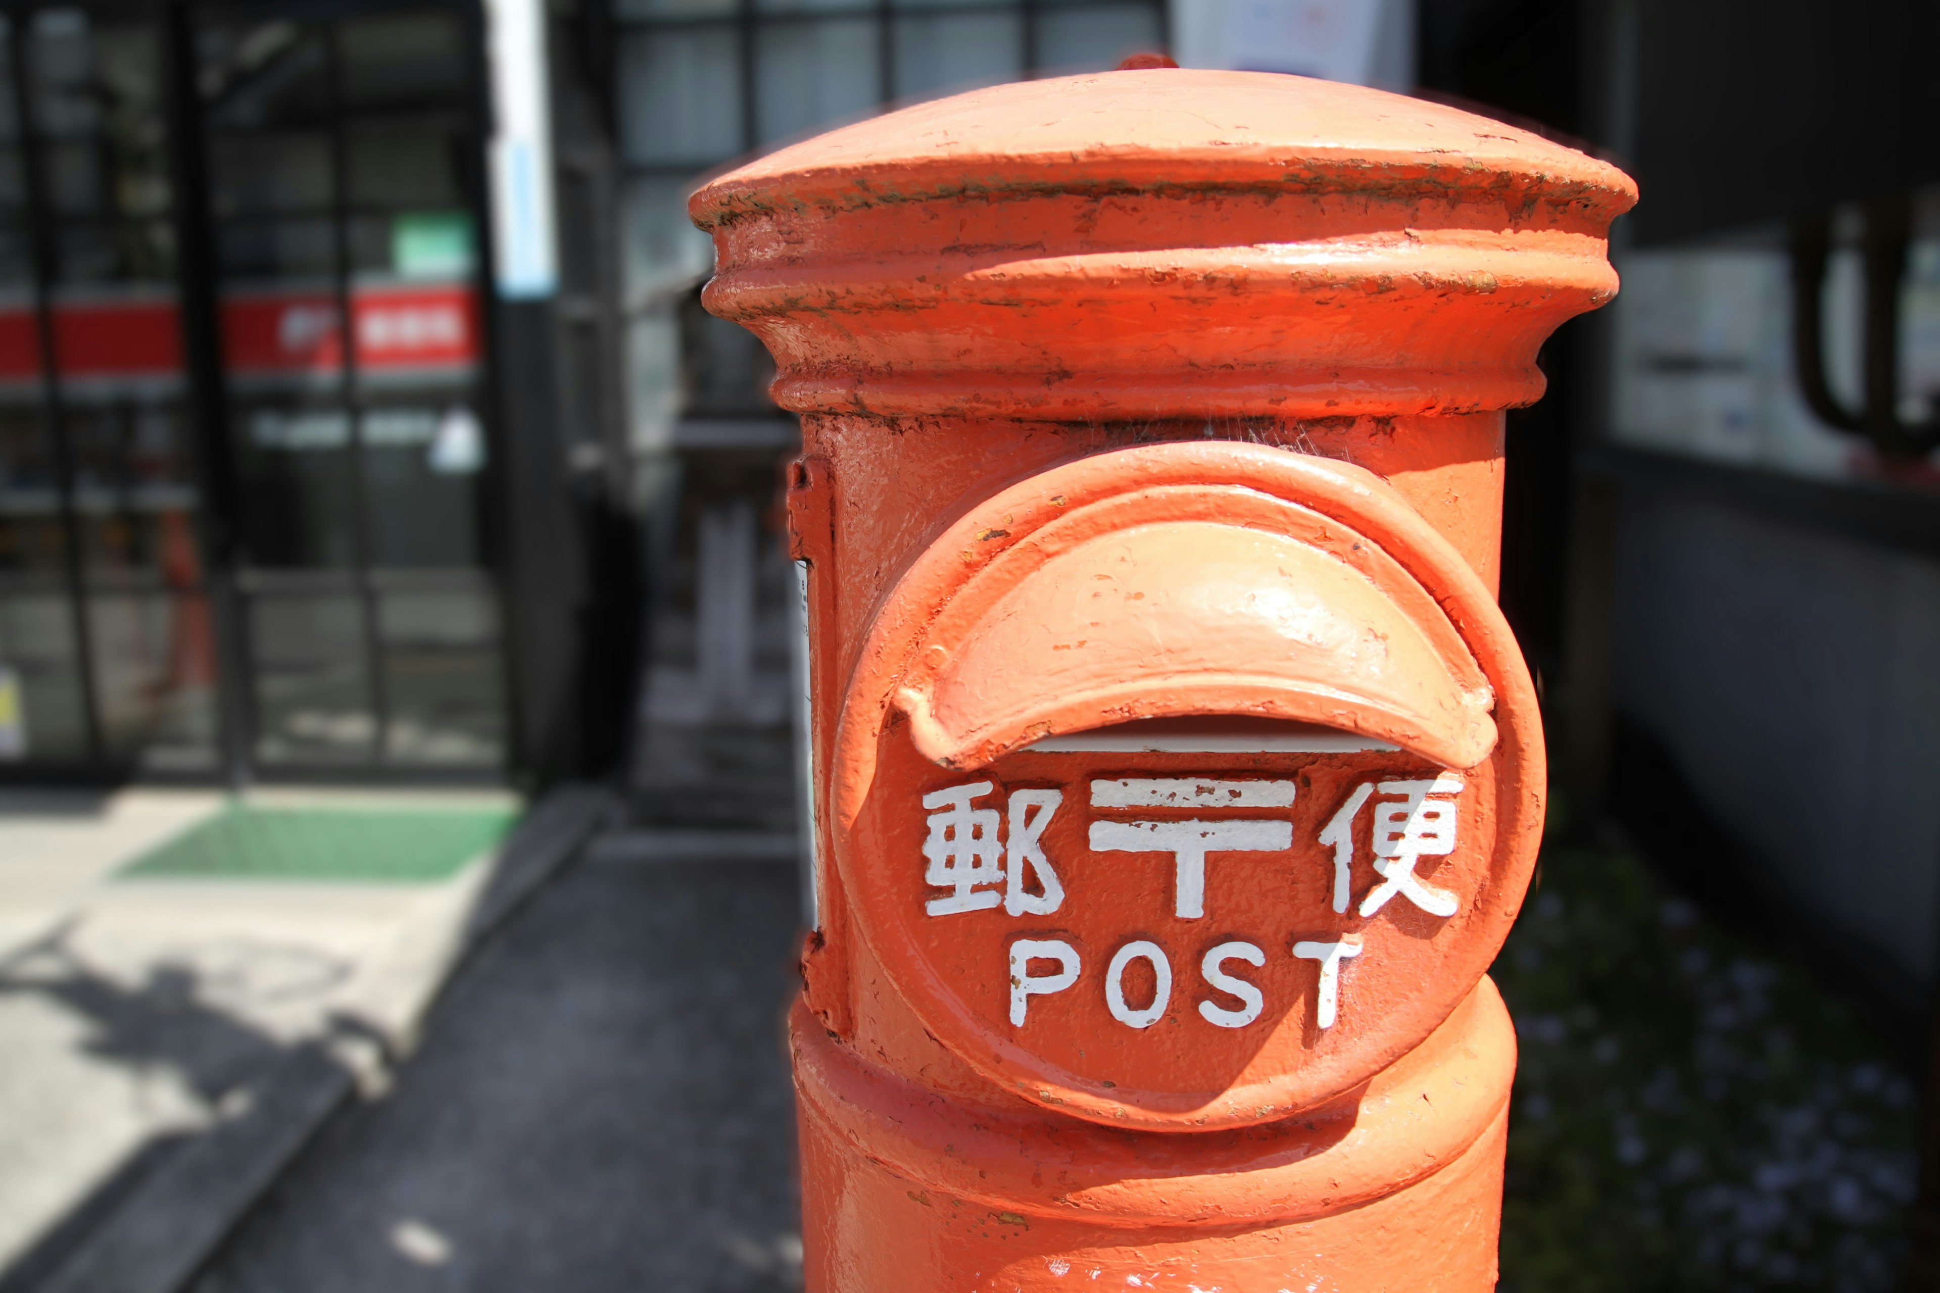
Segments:
[[[875,19],[764,25],[755,39],[760,142],[772,143],[869,112],[883,101]]]

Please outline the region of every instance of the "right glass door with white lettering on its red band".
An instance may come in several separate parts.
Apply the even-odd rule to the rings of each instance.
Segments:
[[[206,12],[196,50],[252,758],[497,768],[469,23]]]

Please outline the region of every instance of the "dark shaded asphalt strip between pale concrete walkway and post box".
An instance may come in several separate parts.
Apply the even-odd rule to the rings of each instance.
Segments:
[[[196,1291],[797,1287],[797,911],[786,861],[590,849]]]

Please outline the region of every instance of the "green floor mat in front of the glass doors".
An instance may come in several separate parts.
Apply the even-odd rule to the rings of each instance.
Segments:
[[[231,808],[136,859],[132,878],[442,880],[512,828],[508,808]]]

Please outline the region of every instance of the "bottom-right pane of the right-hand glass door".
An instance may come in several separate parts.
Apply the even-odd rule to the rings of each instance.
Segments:
[[[504,760],[499,603],[487,591],[388,593],[378,603],[386,754],[404,764]]]

